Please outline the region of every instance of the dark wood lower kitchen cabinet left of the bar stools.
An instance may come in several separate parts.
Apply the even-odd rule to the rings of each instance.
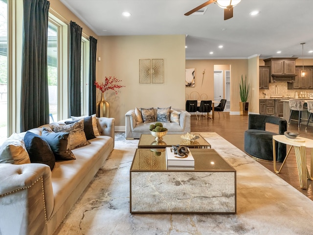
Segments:
[[[259,113],[277,117],[284,116],[284,102],[279,99],[260,99]]]

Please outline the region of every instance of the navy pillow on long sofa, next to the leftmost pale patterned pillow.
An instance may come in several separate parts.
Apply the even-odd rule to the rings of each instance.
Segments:
[[[42,163],[50,166],[52,170],[55,165],[53,152],[41,136],[27,131],[24,136],[25,146],[31,163]]]

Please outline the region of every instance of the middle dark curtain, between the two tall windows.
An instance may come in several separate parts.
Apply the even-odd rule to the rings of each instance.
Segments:
[[[81,116],[81,54],[82,30],[75,22],[69,23],[69,115]]]

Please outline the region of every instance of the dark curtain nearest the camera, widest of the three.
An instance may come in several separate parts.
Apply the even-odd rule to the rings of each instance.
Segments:
[[[47,0],[23,0],[21,131],[49,123]]]

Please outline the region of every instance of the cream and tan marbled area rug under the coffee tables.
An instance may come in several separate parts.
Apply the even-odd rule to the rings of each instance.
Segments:
[[[115,148],[56,235],[312,235],[313,201],[216,133],[200,133],[237,171],[236,214],[131,214],[138,140]],[[173,186],[174,187],[174,186]]]

